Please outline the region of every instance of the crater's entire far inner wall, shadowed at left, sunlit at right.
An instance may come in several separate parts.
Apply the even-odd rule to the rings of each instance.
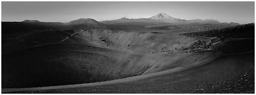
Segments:
[[[140,51],[144,53],[159,53],[166,48],[177,51],[188,47],[198,40],[207,38],[192,38],[172,34],[157,34],[146,32],[124,32],[107,29],[91,30],[52,30],[24,34],[17,38],[3,40],[4,53],[18,51],[24,48],[42,46],[45,44],[76,44],[95,46],[99,48],[117,49],[122,51]]]

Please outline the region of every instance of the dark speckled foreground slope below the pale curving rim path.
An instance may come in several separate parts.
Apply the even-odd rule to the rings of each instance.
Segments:
[[[254,52],[133,82],[18,93],[254,93]]]

